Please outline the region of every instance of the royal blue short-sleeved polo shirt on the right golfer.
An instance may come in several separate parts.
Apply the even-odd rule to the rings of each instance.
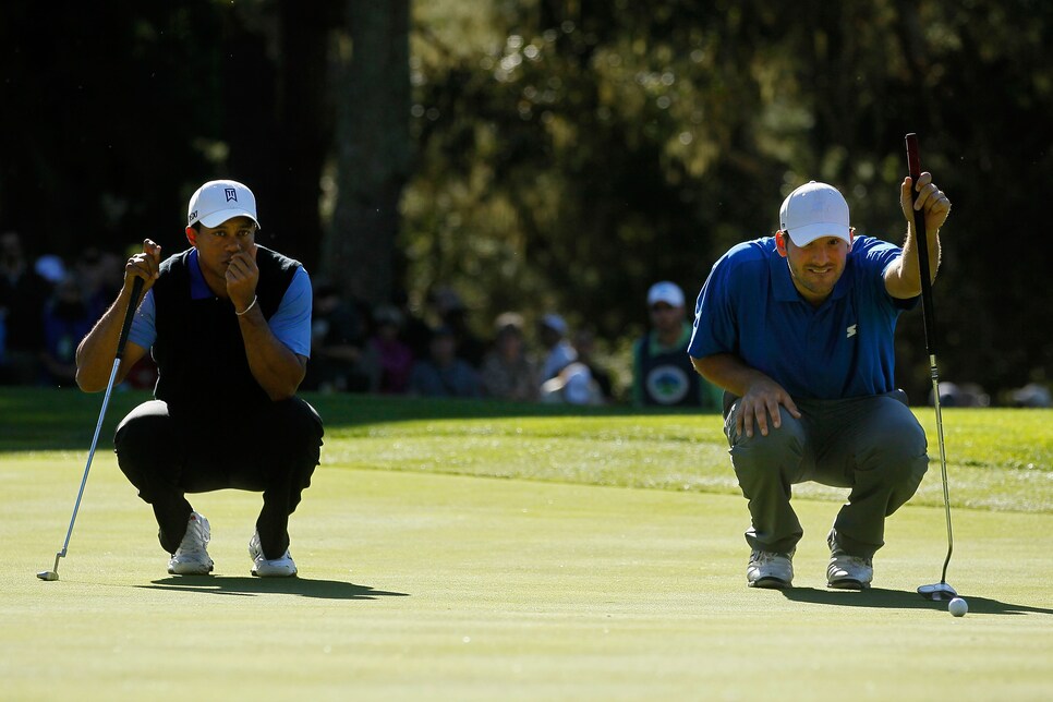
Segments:
[[[734,353],[795,398],[891,392],[896,320],[918,303],[885,290],[885,269],[901,253],[880,239],[857,238],[830,298],[813,307],[794,287],[774,238],[739,244],[702,287],[688,353]]]

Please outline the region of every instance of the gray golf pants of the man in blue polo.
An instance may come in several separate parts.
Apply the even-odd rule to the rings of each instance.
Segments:
[[[747,438],[735,427],[738,402],[724,421],[731,464],[749,499],[752,548],[789,553],[803,535],[790,506],[792,486],[814,481],[851,488],[834,520],[842,548],[872,557],[885,518],[918,489],[929,467],[924,429],[903,391],[844,400],[798,400],[801,419],[780,409],[782,426]]]

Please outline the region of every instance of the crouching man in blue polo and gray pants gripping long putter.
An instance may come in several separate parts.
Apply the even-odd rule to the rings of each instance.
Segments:
[[[850,488],[827,536],[827,585],[869,588],[885,518],[925,473],[924,431],[893,377],[896,319],[921,293],[912,190],[939,262],[951,202],[930,173],[900,185],[903,249],[855,237],[848,203],[813,181],[783,202],[774,237],[733,247],[702,287],[688,353],[725,389],[724,432],[752,518],[751,586],[792,584],[803,531],[790,494],[815,481]]]

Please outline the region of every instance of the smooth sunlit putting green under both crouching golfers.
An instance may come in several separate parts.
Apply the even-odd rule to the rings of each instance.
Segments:
[[[196,496],[216,574],[166,572],[149,508],[96,457],[58,582],[77,453],[0,467],[0,697],[1048,699],[1053,516],[907,507],[875,589],[824,588],[836,505],[801,500],[797,588],[746,588],[740,497],[322,468],[301,578],[249,577],[259,496]],[[931,476],[930,476],[931,477]]]

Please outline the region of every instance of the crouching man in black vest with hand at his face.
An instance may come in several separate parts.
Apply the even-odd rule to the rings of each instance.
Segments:
[[[124,417],[113,444],[154,508],[173,574],[213,569],[208,520],[186,494],[227,487],[263,492],[252,574],[296,573],[289,516],[311,484],[323,435],[322,419],[295,396],[311,353],[311,280],[298,262],[257,245],[258,228],[247,187],[202,185],[190,201],[191,249],[161,261],[161,247],[143,242],[117,301],[76,352],[77,385],[104,390],[132,283],[143,278],[117,382],[152,350],[155,399]]]

